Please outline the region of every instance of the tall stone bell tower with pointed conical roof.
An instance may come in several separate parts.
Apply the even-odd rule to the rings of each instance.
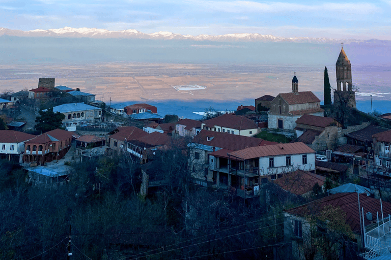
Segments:
[[[356,108],[356,97],[352,89],[352,66],[344,48],[336,63],[337,90],[334,91],[334,104]]]

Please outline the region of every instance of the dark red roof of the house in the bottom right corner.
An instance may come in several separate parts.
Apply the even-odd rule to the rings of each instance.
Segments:
[[[316,200],[299,207],[286,210],[287,213],[306,216],[306,215],[319,215],[324,206],[331,205],[333,207],[339,207],[346,214],[346,224],[350,225],[353,232],[360,233],[360,217],[362,221],[362,212],[358,211],[358,198],[356,192],[350,193],[336,193],[320,200]],[[368,197],[366,193],[359,194],[360,207],[364,208],[364,213],[371,212],[372,219],[376,221],[376,212],[379,212],[381,216],[380,200]],[[388,216],[391,214],[391,204],[382,202],[383,215]],[[372,221],[367,220],[364,216],[365,225],[372,224]]]

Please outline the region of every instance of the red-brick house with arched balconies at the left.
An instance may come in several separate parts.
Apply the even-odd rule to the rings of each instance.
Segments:
[[[54,129],[24,143],[23,163],[44,165],[64,157],[72,145],[72,132]]]

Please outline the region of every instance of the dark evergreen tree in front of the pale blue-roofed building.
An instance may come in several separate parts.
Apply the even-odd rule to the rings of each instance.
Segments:
[[[42,133],[46,133],[57,128],[64,129],[62,127],[62,121],[64,118],[64,114],[61,114],[60,112],[54,113],[53,108],[49,108],[47,111],[41,110],[39,111],[39,116],[35,119],[35,122],[37,123],[35,125],[35,129]]]

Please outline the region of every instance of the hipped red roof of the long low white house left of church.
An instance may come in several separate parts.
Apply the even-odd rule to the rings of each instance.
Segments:
[[[227,127],[232,129],[238,129],[238,130],[258,128],[256,123],[251,119],[248,119],[244,116],[235,116],[235,115],[228,115],[228,114],[224,114],[221,116],[208,119],[203,123],[211,128],[215,126]]]

